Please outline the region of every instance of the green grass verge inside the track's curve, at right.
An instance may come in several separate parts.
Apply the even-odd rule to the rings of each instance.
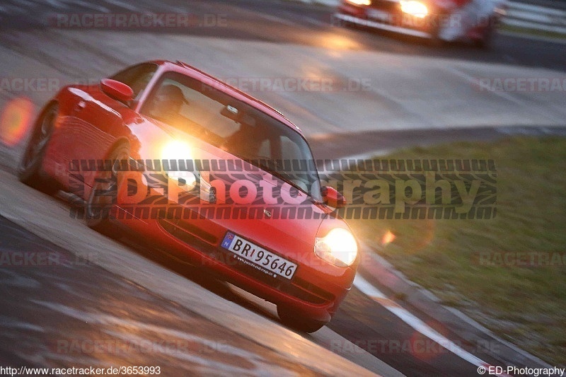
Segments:
[[[550,364],[566,364],[566,139],[459,142],[386,158],[495,160],[495,219],[349,222],[446,305]],[[535,263],[520,253],[537,253]]]

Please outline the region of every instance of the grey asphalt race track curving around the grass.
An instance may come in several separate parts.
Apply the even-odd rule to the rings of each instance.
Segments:
[[[93,13],[190,13],[195,25],[57,25],[57,15]],[[343,28],[331,9],[292,1],[6,0],[0,109],[23,100],[31,117],[67,83],[96,83],[144,60],[180,59],[281,110],[304,130],[316,158],[372,156],[441,141],[566,134],[564,91],[490,85],[564,79],[564,49],[511,35],[499,35],[489,51],[439,49]],[[329,86],[278,86],[304,78]],[[16,85],[22,79],[29,85]],[[328,327],[299,334],[233,286],[147,245],[91,231],[69,217],[65,195],[47,197],[18,182],[26,137],[0,144],[0,366],[161,366],[164,376],[478,376],[477,366],[434,344],[424,354],[367,347],[424,335],[356,287]],[[15,262],[30,253],[50,262]],[[478,350],[460,332],[439,332],[488,364],[524,362]]]

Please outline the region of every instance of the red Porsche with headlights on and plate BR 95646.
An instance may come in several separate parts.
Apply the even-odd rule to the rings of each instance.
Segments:
[[[313,332],[350,290],[358,243],[298,127],[183,62],[131,66],[62,88],[40,112],[22,182],[81,200],[75,214],[127,231],[277,304]]]

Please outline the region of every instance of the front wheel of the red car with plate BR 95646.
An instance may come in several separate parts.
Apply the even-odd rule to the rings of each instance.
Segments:
[[[113,161],[111,171],[99,171],[93,182],[93,189],[85,204],[86,225],[99,233],[116,237],[117,227],[112,224],[111,209],[117,202],[117,161],[129,157],[129,145],[118,144],[108,153],[106,159]],[[105,194],[105,195],[103,195]]]

